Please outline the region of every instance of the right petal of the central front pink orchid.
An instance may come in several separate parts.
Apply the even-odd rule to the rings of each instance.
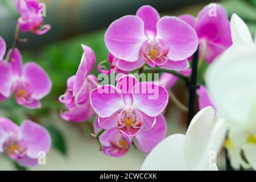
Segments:
[[[162,113],[168,102],[168,93],[163,86],[151,82],[139,82],[133,88],[133,109],[155,117]]]

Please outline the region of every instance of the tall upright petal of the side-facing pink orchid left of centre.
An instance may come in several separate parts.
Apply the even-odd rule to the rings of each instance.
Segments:
[[[89,75],[90,72],[92,72],[96,61],[96,56],[92,48],[85,46],[84,44],[82,44],[82,48],[84,49],[84,53],[82,54],[82,59],[76,72],[73,96],[76,96],[76,94],[82,88],[86,76]]]

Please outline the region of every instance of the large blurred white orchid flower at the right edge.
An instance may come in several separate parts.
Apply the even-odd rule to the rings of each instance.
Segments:
[[[209,66],[206,82],[229,127],[225,146],[232,167],[256,169],[256,44],[239,16],[230,22],[233,46]]]

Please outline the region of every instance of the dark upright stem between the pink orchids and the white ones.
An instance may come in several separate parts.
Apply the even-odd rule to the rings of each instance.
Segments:
[[[188,101],[188,123],[189,126],[192,118],[195,115],[195,101],[196,101],[196,89],[197,89],[197,64],[198,64],[198,52],[194,53],[192,61],[192,74],[189,84],[189,101]]]

